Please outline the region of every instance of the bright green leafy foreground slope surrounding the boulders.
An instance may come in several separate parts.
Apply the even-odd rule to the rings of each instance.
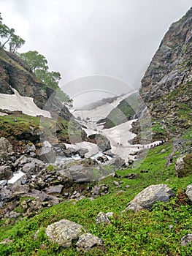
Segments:
[[[165,152],[161,153],[163,148]],[[192,175],[186,178],[175,177],[175,159],[172,165],[165,167],[165,157],[171,152],[171,142],[151,148],[141,165],[137,162],[132,169],[118,171],[120,176],[139,173],[138,179],[105,178],[103,182],[110,186],[110,194],[97,197],[96,200],[63,202],[45,209],[31,219],[24,218],[9,225],[5,224],[7,219],[2,219],[0,239],[10,238],[12,242],[8,245],[0,244],[0,255],[192,255],[191,246],[180,246],[180,238],[192,230],[192,208],[185,200],[181,202],[175,197],[168,204],[157,203],[151,212],[121,213],[127,203],[150,184],[168,184],[177,195],[191,184]],[[140,173],[143,169],[149,172]],[[123,181],[122,189],[126,185],[130,187],[125,192],[118,192],[114,180]],[[111,224],[95,225],[99,211],[115,213]],[[64,249],[48,241],[45,227],[62,218],[78,222],[99,236],[104,241],[104,248],[84,253],[77,252],[74,245]],[[34,233],[38,229],[40,231],[34,241]]]

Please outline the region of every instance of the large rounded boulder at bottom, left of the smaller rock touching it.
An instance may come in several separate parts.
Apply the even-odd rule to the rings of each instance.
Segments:
[[[72,241],[79,238],[82,234],[83,227],[75,222],[70,222],[67,219],[61,219],[49,225],[46,229],[46,234],[54,243],[69,247]]]

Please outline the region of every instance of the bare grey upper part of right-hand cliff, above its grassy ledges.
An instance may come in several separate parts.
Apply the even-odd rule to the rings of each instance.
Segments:
[[[144,78],[142,95],[151,101],[192,80],[192,8],[166,32]]]

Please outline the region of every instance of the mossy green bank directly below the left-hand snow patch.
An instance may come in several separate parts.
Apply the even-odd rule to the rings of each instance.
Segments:
[[[48,140],[58,138],[66,142],[69,140],[68,127],[69,122],[60,116],[57,121],[45,117],[27,116],[19,111],[0,116],[0,137],[10,140],[28,140],[37,143],[40,130]],[[80,128],[74,129],[74,132],[80,132]]]

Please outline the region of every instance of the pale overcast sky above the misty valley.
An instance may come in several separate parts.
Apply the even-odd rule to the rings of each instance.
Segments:
[[[191,0],[0,0],[4,23],[26,40],[20,51],[42,53],[71,96],[97,89],[77,85],[89,75],[138,88],[169,26],[190,7]],[[115,83],[102,89],[126,92]]]

